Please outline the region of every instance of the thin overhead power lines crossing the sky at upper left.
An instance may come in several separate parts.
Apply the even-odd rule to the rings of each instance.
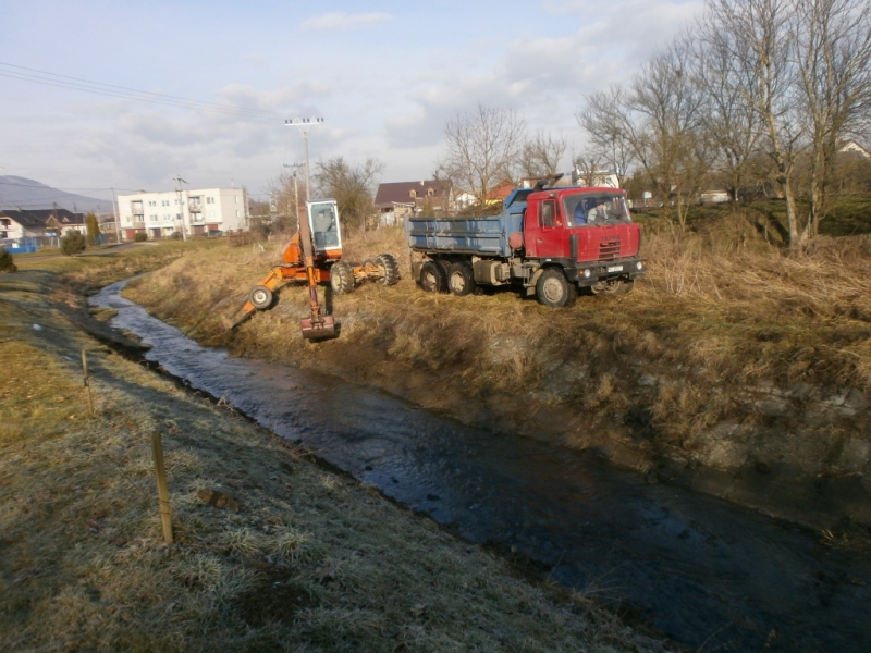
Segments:
[[[4,67],[14,70],[3,70]],[[12,63],[5,63],[2,61],[0,61],[0,77],[8,77],[10,79],[21,79],[24,82],[42,84],[44,86],[69,88],[72,90],[81,90],[84,93],[91,93],[108,97],[137,100],[140,102],[149,102],[154,104],[164,104],[164,106],[177,107],[181,109],[191,109],[196,111],[212,111],[230,115],[249,115],[255,118],[269,118],[270,120],[280,115],[274,111],[266,111],[262,109],[247,109],[244,107],[234,107],[232,104],[219,104],[217,102],[204,102],[200,100],[191,100],[179,96],[172,96],[161,93],[152,93],[149,90],[139,90],[136,88],[127,88],[125,86],[115,86],[113,84],[103,84],[102,82],[91,82],[90,79],[83,79],[81,77],[70,77],[68,75],[59,75],[57,73],[40,71],[36,69],[28,69],[25,66],[15,65]]]

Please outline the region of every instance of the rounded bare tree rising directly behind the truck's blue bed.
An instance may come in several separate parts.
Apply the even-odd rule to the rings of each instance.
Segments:
[[[513,176],[526,123],[513,110],[478,103],[461,111],[444,126],[443,176],[473,193],[481,204],[487,194]]]

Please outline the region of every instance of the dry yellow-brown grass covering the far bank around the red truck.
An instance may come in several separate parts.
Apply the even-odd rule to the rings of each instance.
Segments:
[[[351,238],[352,258],[396,255],[403,279],[333,298],[341,337],[319,344],[298,336],[307,310],[299,287],[283,289],[274,309],[233,334],[220,324],[220,313],[232,312],[277,262],[278,245],[186,257],[133,293],[158,316],[236,354],[379,384],[467,421],[491,420],[498,410],[510,428],[537,436],[563,439],[576,420],[525,421],[530,403],[594,409],[611,422],[635,406],[651,416],[660,442],[682,447],[723,420],[756,423],[747,393],[757,389],[871,390],[869,236],[819,237],[785,256],[743,215],[692,234],[649,231],[650,274],[634,293],[584,296],[568,310],[510,289],[426,294],[408,278],[401,230]],[[513,397],[507,411],[499,396]]]

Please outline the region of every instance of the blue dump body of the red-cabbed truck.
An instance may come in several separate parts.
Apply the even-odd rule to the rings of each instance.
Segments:
[[[505,198],[502,213],[484,218],[409,218],[408,246],[417,251],[455,251],[484,257],[512,255],[508,236],[524,231],[526,198],[519,188]]]

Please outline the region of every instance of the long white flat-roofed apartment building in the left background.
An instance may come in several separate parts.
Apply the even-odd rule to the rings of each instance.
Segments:
[[[123,241],[137,233],[165,238],[175,232],[187,236],[209,232],[248,231],[248,194],[245,188],[201,188],[136,193],[118,196]]]

